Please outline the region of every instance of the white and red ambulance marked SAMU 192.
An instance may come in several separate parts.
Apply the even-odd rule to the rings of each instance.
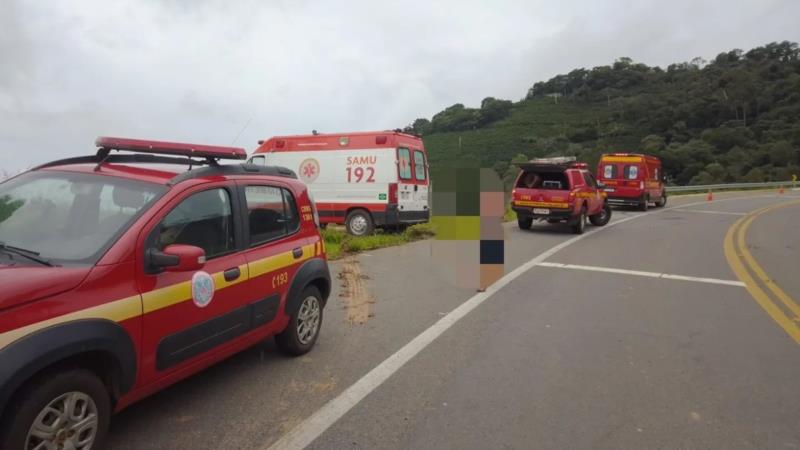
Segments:
[[[397,131],[276,136],[250,158],[294,170],[320,222],[356,236],[428,221],[427,161],[422,139]]]

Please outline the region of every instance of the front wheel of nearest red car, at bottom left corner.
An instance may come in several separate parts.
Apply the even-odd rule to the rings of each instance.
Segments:
[[[53,411],[62,409],[64,413],[71,409],[70,414],[76,418],[60,424]],[[15,396],[10,411],[15,413],[7,416],[7,423],[0,430],[0,442],[4,449],[36,448],[46,441],[46,438],[31,435],[37,424],[40,430],[52,436],[54,447],[59,440],[62,443],[72,440],[72,443],[80,444],[75,448],[105,448],[111,422],[111,398],[100,378],[88,370],[46,372],[22,388]],[[76,429],[79,423],[87,420],[90,423],[82,430]]]

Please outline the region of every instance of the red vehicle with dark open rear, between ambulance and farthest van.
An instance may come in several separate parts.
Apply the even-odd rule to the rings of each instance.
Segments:
[[[511,207],[521,229],[529,229],[534,220],[546,220],[566,222],[573,232],[582,234],[587,217],[597,226],[611,220],[604,186],[595,181],[585,163],[564,157],[535,159],[518,166]]]

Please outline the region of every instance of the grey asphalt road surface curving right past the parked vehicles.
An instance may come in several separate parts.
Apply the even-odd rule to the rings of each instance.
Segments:
[[[366,322],[337,285],[309,355],[237,355],[116,416],[110,448],[800,448],[797,317],[772,291],[800,299],[800,204],[749,224],[758,286],[724,251],[746,214],[800,193],[716,200],[616,210],[577,240],[509,226],[506,272],[541,265],[479,302],[438,275],[430,242],[362,254],[347,264]]]

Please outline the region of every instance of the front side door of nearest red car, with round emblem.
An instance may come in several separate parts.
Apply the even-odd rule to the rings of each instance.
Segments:
[[[235,185],[215,183],[183,193],[140,236],[143,303],[142,380],[182,371],[247,331],[247,265]],[[200,247],[206,262],[191,272],[158,271],[151,249]]]

